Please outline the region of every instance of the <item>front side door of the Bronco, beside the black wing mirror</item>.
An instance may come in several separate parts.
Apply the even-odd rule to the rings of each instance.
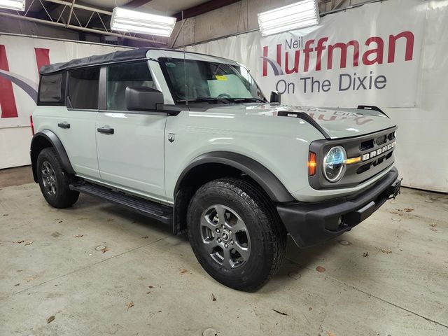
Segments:
[[[127,111],[126,87],[155,87],[148,62],[102,69],[104,106],[97,116],[97,152],[102,181],[125,190],[165,197],[166,113]]]

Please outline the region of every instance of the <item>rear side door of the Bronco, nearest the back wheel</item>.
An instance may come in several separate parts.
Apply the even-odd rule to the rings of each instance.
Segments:
[[[63,75],[66,107],[58,107],[57,113],[49,113],[51,130],[62,141],[76,174],[97,179],[95,119],[98,113],[99,68],[73,69]],[[44,78],[41,91],[43,83]],[[45,109],[50,111],[52,106],[45,106]]]

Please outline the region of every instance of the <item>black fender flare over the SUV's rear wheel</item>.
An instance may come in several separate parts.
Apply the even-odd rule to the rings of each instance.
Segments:
[[[62,145],[62,141],[57,137],[57,135],[54,132],[50,130],[43,130],[41,132],[34,134],[33,139],[31,139],[31,147],[29,149],[34,181],[37,183],[36,162],[37,162],[37,156],[40,153],[40,150],[38,151],[38,149],[41,149],[37,144],[39,142],[39,139],[41,138],[46,139],[51,144],[51,146],[55,148],[57,155],[59,155],[59,159],[61,160],[61,164],[65,172],[69,174],[76,174],[76,172],[73,170],[73,167],[71,167],[69,155],[67,155],[64,145]]]

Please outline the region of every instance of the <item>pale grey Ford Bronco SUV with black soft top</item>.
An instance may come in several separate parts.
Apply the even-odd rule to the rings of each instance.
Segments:
[[[52,207],[101,197],[188,232],[217,281],[256,290],[300,247],[400,192],[396,125],[375,106],[267,102],[248,69],[153,48],[43,66],[34,181]]]

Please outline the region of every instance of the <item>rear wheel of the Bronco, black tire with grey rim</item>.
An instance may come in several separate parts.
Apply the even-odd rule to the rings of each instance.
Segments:
[[[70,176],[62,169],[54,148],[44,148],[39,153],[36,169],[42,195],[52,207],[70,207],[78,200],[79,193],[70,190]]]

